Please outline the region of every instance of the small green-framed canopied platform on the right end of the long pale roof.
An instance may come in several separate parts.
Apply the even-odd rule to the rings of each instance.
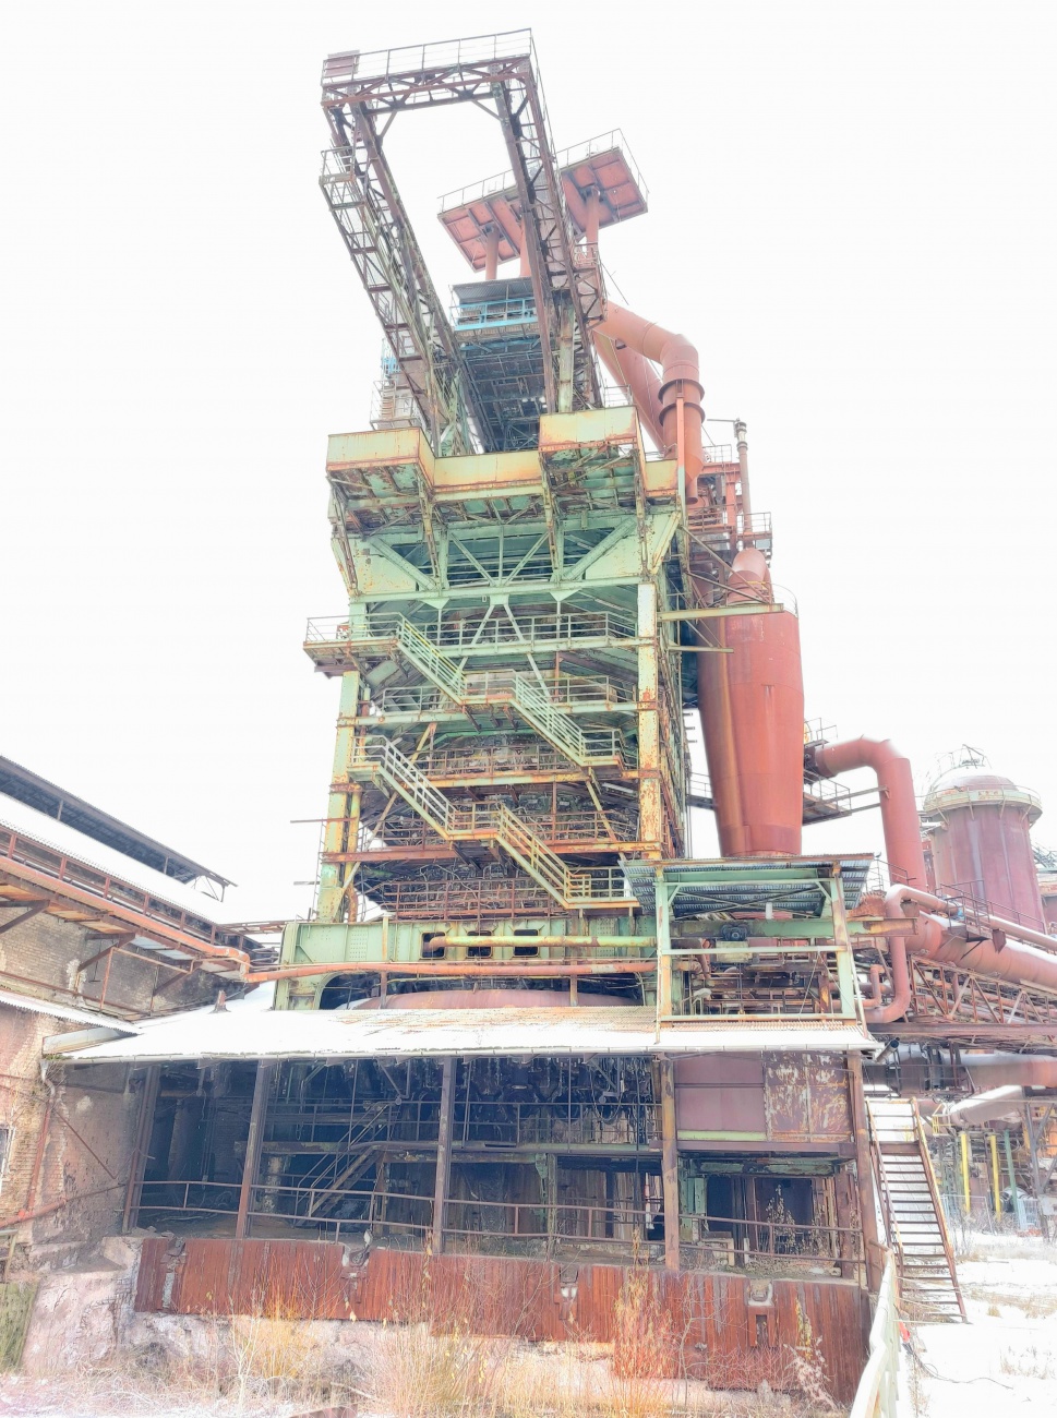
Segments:
[[[702,1015],[861,1025],[847,908],[874,858],[626,861],[657,934],[657,1027]]]

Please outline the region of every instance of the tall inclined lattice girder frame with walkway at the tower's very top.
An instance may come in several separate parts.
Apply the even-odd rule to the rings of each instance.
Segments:
[[[474,390],[382,153],[386,129],[375,119],[386,115],[387,126],[403,109],[458,102],[494,104],[502,123],[549,411],[599,407],[589,328],[604,313],[596,252],[579,251],[573,241],[528,31],[332,55],[323,68],[323,108],[335,149],[323,159],[323,191],[434,447],[450,430],[453,452],[464,447],[465,414],[478,413]],[[482,432],[484,420],[475,423]]]

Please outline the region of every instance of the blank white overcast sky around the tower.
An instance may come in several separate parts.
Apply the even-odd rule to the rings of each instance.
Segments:
[[[919,781],[983,749],[1057,847],[1051,3],[9,0],[0,24],[0,753],[234,878],[234,916],[305,910],[326,435],[366,427],[380,350],[316,189],[321,64],[525,24],[556,145],[620,126],[650,187],[604,234],[620,291],[748,421],[807,713],[894,737]],[[436,199],[507,166],[498,125],[406,115],[389,146],[437,284],[465,278]],[[806,834],[880,845],[877,813]]]

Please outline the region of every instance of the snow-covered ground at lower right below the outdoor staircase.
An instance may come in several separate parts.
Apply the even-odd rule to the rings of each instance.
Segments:
[[[914,1326],[921,1363],[907,1366],[900,1412],[1057,1412],[1057,1245],[976,1234],[958,1259],[958,1278],[969,1323]],[[909,1373],[915,1367],[917,1384]]]

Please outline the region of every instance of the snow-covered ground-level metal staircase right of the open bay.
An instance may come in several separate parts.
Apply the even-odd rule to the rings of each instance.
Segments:
[[[918,1105],[912,1098],[867,1096],[867,1112],[900,1295],[914,1306],[917,1319],[965,1319]]]

